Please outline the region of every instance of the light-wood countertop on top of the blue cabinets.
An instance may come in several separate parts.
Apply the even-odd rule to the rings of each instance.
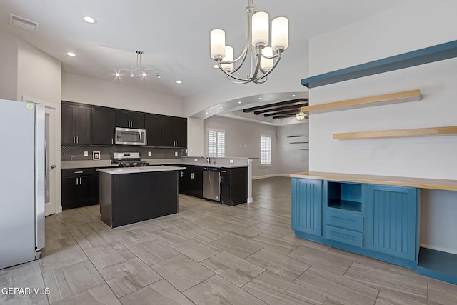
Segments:
[[[457,191],[457,180],[409,178],[396,176],[375,176],[361,174],[338,174],[321,171],[303,171],[290,175],[292,178],[349,181],[367,184],[385,184],[395,186],[409,186],[421,189],[443,189],[446,191]]]

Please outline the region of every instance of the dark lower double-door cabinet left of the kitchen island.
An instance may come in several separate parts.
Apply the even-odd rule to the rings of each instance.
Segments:
[[[62,169],[62,209],[99,204],[99,173],[94,168]]]

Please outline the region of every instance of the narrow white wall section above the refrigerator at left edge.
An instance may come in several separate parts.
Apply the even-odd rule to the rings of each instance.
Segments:
[[[0,99],[17,99],[16,37],[0,33]]]

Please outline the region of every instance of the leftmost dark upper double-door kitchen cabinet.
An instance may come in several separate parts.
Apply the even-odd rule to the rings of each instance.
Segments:
[[[91,144],[91,106],[62,102],[61,144]]]

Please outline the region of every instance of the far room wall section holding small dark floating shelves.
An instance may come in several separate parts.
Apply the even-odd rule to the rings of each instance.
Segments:
[[[309,150],[299,150],[299,148],[308,148],[309,144],[291,144],[291,142],[308,141],[309,137],[288,138],[288,136],[308,134],[309,126],[307,120],[303,120],[298,124],[278,127],[278,171],[281,174],[308,171]]]

